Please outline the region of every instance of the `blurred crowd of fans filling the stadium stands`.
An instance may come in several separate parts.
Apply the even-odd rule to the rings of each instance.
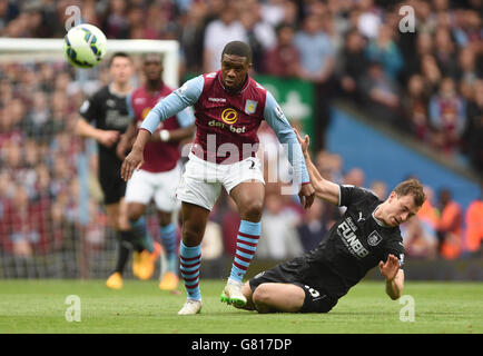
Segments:
[[[414,31],[400,29],[403,4],[414,10]],[[336,182],[367,186],[363,171],[345,171],[342,158],[324,150],[336,97],[447,159],[464,155],[483,175],[480,1],[0,0],[0,36],[61,38],[68,6],[78,6],[82,21],[98,26],[109,39],[178,40],[181,78],[217,70],[224,44],[244,40],[254,51],[255,75],[313,82],[316,162]],[[81,87],[65,61],[0,62],[3,255],[30,258],[62,250],[75,236],[93,250],[105,244],[96,155],[72,128],[86,95],[107,81],[101,69],[90,89]],[[86,176],[79,175],[82,159],[89,161]],[[382,181],[368,187],[382,198],[387,194]],[[82,199],[86,189],[91,194]],[[260,257],[280,259],[313,248],[341,214],[319,201],[300,211],[278,189],[267,186]],[[451,191],[427,191],[431,199],[422,212],[403,227],[408,255],[454,259],[477,251],[481,197],[463,209]],[[211,219],[224,253],[233,254],[238,222],[229,197],[220,199]]]

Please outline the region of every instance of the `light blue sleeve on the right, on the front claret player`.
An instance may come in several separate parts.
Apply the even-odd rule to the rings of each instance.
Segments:
[[[308,177],[300,144],[298,144],[294,129],[285,117],[284,111],[282,111],[269,91],[267,91],[264,118],[275,131],[275,135],[287,154],[288,161],[294,168],[294,180],[300,184],[309,182],[310,179]]]

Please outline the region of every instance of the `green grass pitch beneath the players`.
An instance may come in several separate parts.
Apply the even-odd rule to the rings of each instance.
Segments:
[[[125,280],[110,290],[105,280],[0,280],[0,334],[164,333],[318,334],[483,332],[483,284],[406,281],[415,320],[403,323],[404,305],[391,300],[383,281],[355,286],[328,314],[269,314],[219,301],[224,280],[201,280],[201,314],[178,316],[186,294],[160,291],[157,281]],[[77,295],[81,322],[66,320],[66,298]]]

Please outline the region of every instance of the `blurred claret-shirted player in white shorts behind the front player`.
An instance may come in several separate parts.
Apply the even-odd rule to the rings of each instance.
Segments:
[[[136,89],[128,97],[128,109],[134,121],[118,145],[117,151],[120,159],[125,159],[130,142],[136,137],[137,130],[155,105],[168,96],[172,90],[162,82],[162,59],[160,55],[149,53],[144,57],[142,69],[146,85]],[[134,172],[126,188],[126,201],[128,204],[128,217],[131,225],[145,226],[142,215],[151,199],[155,200],[159,231],[162,247],[167,255],[168,266],[166,274],[161,276],[159,288],[174,290],[178,286],[178,251],[177,228],[172,224],[172,211],[177,207],[176,188],[181,178],[179,142],[193,138],[195,132],[195,116],[187,108],[176,117],[162,121],[145,147],[145,164],[140,170]],[[120,178],[120,175],[119,175]],[[142,253],[148,254],[147,251]],[[141,256],[141,259],[148,258]],[[151,269],[136,271],[140,279],[152,276]]]

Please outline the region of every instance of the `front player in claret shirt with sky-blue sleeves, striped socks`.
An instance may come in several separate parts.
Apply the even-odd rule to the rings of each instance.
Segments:
[[[129,179],[135,169],[142,167],[142,151],[159,122],[194,106],[196,138],[177,189],[183,215],[179,264],[188,294],[179,315],[193,315],[201,309],[200,244],[221,187],[241,216],[237,250],[221,300],[240,307],[247,303],[240,288],[260,236],[265,197],[260,162],[255,156],[262,120],[267,121],[288,150],[300,204],[309,208],[314,201],[314,188],[294,130],[274,97],[248,76],[250,68],[248,44],[240,41],[226,44],[219,71],[187,81],[156,105],[142,121],[132,150],[122,162],[121,177]]]

